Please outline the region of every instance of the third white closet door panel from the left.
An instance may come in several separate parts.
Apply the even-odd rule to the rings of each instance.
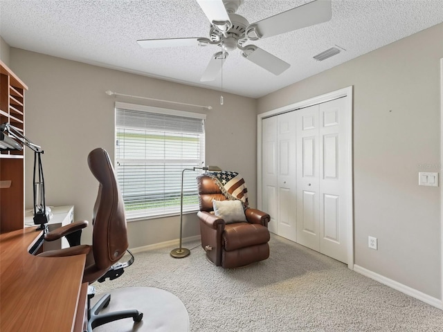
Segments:
[[[297,241],[320,251],[318,105],[296,111]]]

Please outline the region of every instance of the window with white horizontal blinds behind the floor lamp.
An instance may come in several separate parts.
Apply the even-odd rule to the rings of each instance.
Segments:
[[[205,118],[116,102],[116,172],[128,219],[180,212],[183,169],[204,165]],[[198,210],[197,175],[183,173],[183,212]]]

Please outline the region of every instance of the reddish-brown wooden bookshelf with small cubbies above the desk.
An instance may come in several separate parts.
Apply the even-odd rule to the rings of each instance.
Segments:
[[[6,64],[0,61],[0,124],[9,122],[25,131],[25,91]],[[24,228],[24,150],[0,149],[0,233]]]

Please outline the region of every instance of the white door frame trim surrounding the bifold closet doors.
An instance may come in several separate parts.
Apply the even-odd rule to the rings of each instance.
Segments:
[[[443,66],[443,59],[442,59],[442,66]],[[442,69],[442,80],[443,80],[443,69]],[[347,97],[345,103],[345,113],[350,123],[350,126],[347,128],[347,135],[349,139],[346,150],[349,158],[347,161],[347,173],[345,178],[345,186],[347,192],[346,220],[347,220],[347,234],[348,234],[347,267],[350,268],[351,270],[354,270],[354,182],[353,182],[354,172],[353,172],[353,163],[352,163],[353,160],[352,128],[354,126],[352,122],[352,100],[353,100],[352,94],[353,94],[352,86],[348,86],[347,88],[325,93],[323,95],[318,95],[314,98],[302,100],[301,102],[289,104],[287,106],[279,107],[278,109],[273,109],[271,111],[266,111],[264,113],[260,113],[257,115],[257,207],[259,209],[262,208],[262,119],[269,118],[270,116],[276,116],[278,114],[286,113],[289,111],[296,111],[297,109],[302,109],[315,104],[320,104],[322,102],[328,102],[329,100]],[[443,142],[443,136],[442,136],[442,142]],[[442,231],[442,238],[443,238],[443,231]]]

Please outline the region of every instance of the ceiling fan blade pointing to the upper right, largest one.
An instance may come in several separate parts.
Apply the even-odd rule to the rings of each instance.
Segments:
[[[246,28],[246,36],[251,40],[267,38],[323,23],[331,17],[331,1],[315,0],[251,24]]]

